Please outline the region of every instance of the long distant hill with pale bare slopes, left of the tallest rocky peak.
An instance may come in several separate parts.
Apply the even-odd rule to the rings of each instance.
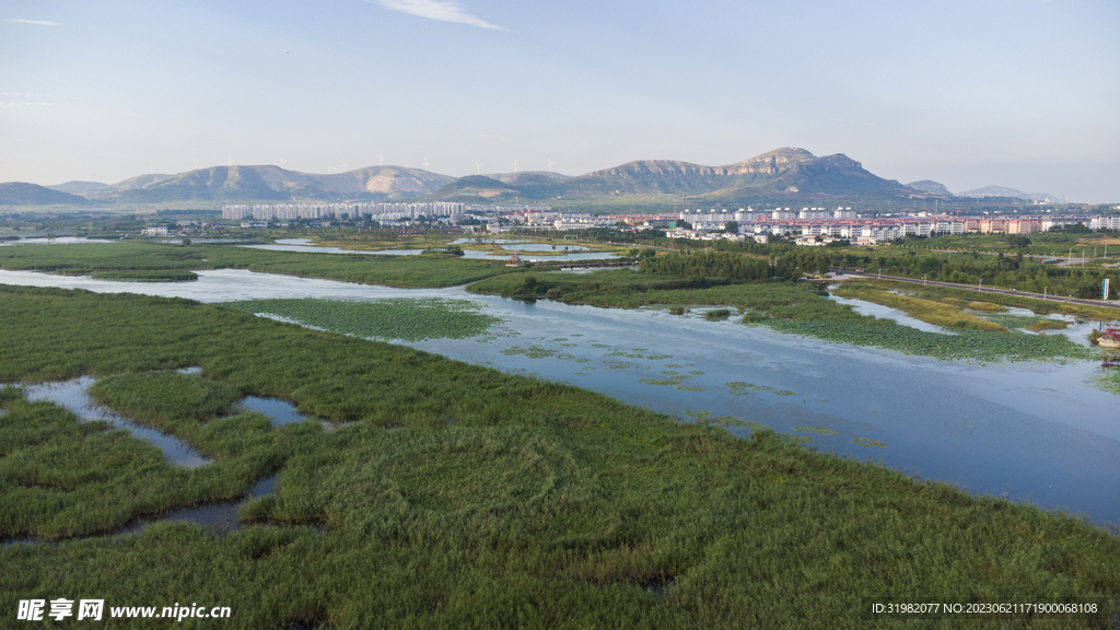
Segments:
[[[213,166],[177,175],[141,175],[87,193],[118,202],[380,201],[418,197],[454,177],[398,166],[314,175],[279,166]]]

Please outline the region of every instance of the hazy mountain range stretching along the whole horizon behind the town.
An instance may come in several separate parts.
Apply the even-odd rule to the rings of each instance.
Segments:
[[[988,192],[989,189],[995,192]],[[964,193],[992,196],[1012,188]],[[67,182],[44,187],[0,184],[0,205],[63,205],[165,202],[288,201],[458,201],[493,203],[554,200],[665,203],[681,197],[702,203],[783,203],[829,200],[950,198],[928,179],[903,185],[868,172],[843,154],[816,157],[804,149],[782,148],[726,166],[678,160],[638,160],[570,177],[551,172],[520,172],[451,177],[417,168],[371,166],[316,175],[273,165],[213,166],[174,175],[149,174],[118,184]],[[1024,197],[1032,198],[1032,197]]]

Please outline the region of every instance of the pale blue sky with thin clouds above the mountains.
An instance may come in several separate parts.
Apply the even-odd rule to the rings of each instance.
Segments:
[[[1120,202],[1117,33],[1116,0],[6,0],[0,182],[800,147]]]

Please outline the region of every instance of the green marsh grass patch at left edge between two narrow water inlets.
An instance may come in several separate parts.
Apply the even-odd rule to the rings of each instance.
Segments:
[[[290,434],[271,430],[268,419],[255,414],[205,427],[171,416],[148,423],[215,458],[186,470],[127,430],[103,421],[82,423],[50,402],[20,398],[4,407],[0,538],[106,532],[141,516],[233,499],[295,451],[295,441],[282,439]]]

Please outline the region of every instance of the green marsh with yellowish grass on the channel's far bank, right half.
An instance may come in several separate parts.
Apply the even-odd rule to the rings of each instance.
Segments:
[[[726,252],[671,254],[643,260],[641,271],[605,270],[584,275],[521,271],[475,282],[468,290],[631,308],[654,304],[735,306],[744,312],[743,323],[762,324],[782,333],[906,354],[974,361],[1092,359],[1098,356],[1096,351],[1064,335],[1028,335],[1006,326],[1034,331],[1066,326],[1065,322],[1043,317],[1049,313],[1095,318],[1116,316],[1114,312],[1101,307],[998,294],[981,297],[976,291],[946,287],[917,290],[914,285],[879,280],[849,281],[836,289],[839,296],[898,308],[912,317],[942,326],[951,334],[918,331],[888,318],[861,315],[849,305],[829,299],[822,293],[823,285],[791,281],[791,277],[800,274],[797,269],[792,262],[771,265],[764,258],[749,259]],[[1035,316],[1005,314],[1008,306],[1032,308]],[[725,312],[730,314],[727,309],[710,309],[704,317],[720,319]],[[683,314],[684,309],[674,306],[671,313]]]

